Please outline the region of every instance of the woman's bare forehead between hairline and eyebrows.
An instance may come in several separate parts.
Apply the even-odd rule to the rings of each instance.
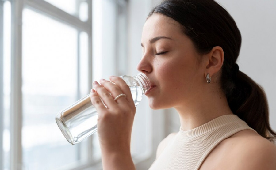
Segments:
[[[163,14],[154,13],[147,19],[142,32],[142,42],[157,36],[176,38],[183,35],[180,24]]]

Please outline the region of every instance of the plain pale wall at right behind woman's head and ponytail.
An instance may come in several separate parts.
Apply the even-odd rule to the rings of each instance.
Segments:
[[[276,1],[219,0],[235,19],[242,34],[240,70],[261,85],[270,107],[270,124],[276,130]]]

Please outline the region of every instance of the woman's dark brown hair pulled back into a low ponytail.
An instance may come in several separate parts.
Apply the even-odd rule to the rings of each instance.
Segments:
[[[276,137],[269,124],[268,104],[263,89],[239,71],[241,34],[230,14],[214,0],[165,0],[149,13],[171,17],[201,54],[220,46],[224,51],[220,85],[232,112],[267,139]]]

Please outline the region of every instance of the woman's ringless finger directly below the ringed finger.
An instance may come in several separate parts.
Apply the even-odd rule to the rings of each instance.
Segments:
[[[115,107],[117,105],[117,103],[114,101],[114,98],[110,95],[109,91],[104,88],[103,85],[100,85],[97,81],[94,81],[93,86],[99,97],[108,108]]]

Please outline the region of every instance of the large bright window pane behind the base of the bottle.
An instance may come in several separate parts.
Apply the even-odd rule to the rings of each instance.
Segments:
[[[55,122],[56,113],[77,99],[77,43],[76,29],[23,10],[22,159],[29,170],[81,160],[79,146],[69,145]]]

